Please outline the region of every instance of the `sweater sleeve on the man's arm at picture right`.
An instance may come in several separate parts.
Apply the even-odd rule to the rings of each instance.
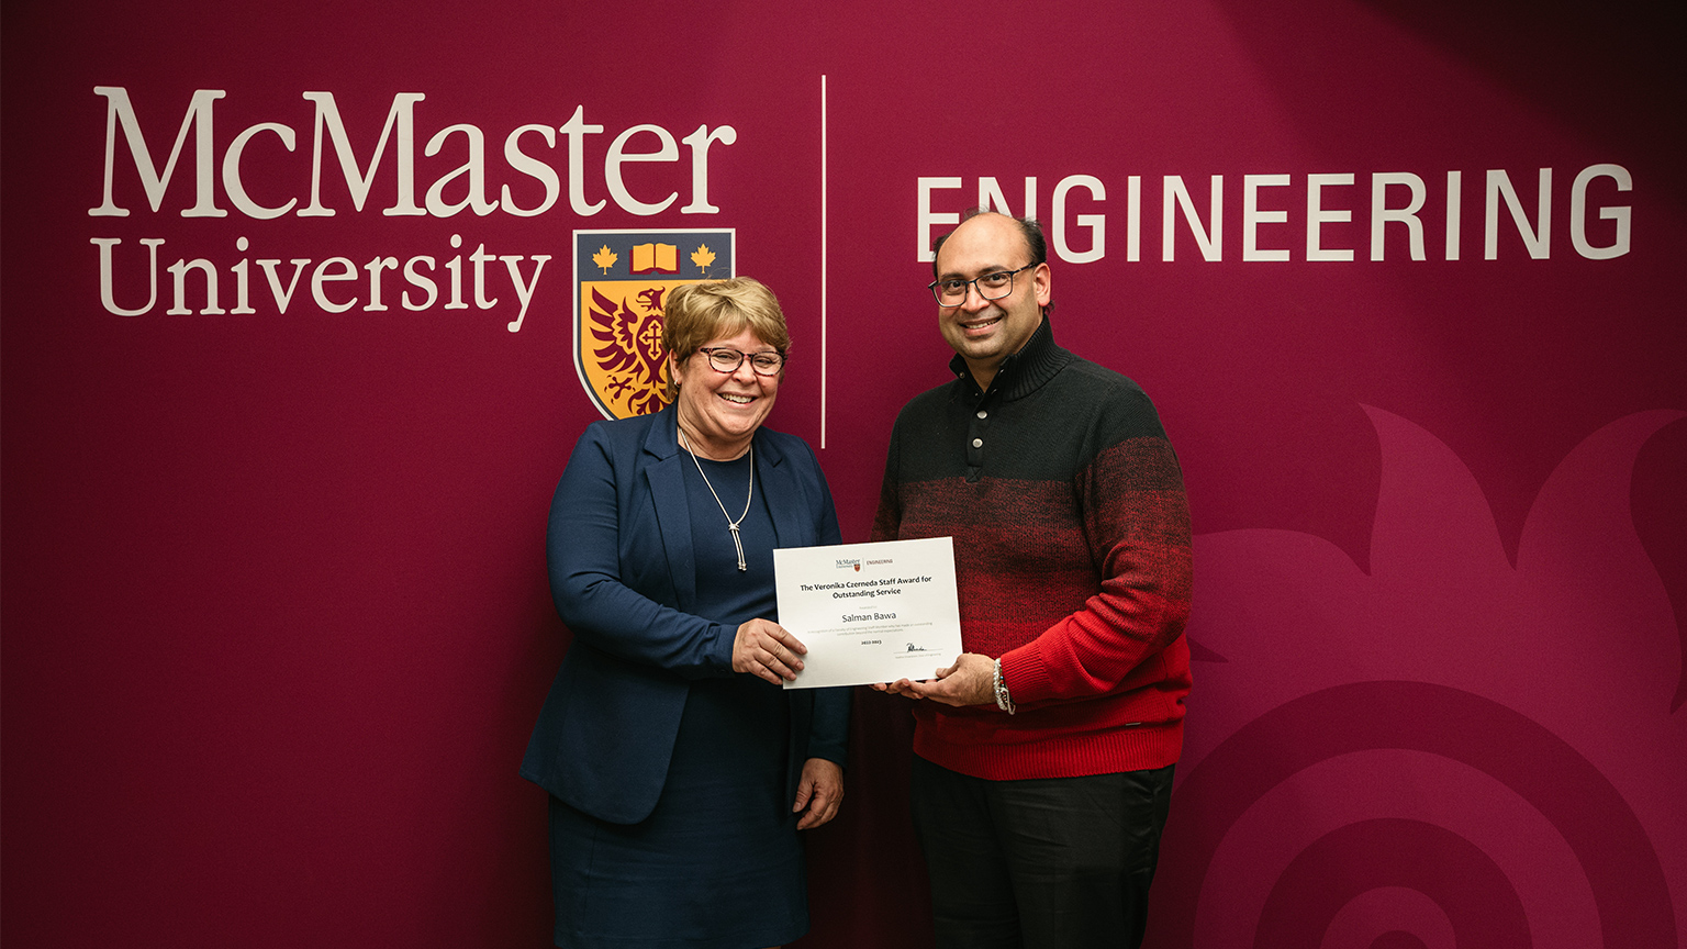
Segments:
[[[1189,505],[1178,456],[1149,417],[1075,476],[1100,588],[1083,608],[1002,655],[1016,702],[1075,701],[1164,674],[1157,660],[1189,618]],[[1147,424],[1152,422],[1152,424]],[[1140,670],[1140,672],[1139,672]]]

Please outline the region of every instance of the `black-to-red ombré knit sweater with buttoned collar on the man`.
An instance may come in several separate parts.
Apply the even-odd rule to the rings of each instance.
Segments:
[[[1189,507],[1159,414],[1044,319],[978,392],[896,417],[874,540],[955,537],[962,643],[1002,659],[1017,714],[916,702],[914,751],[973,777],[1159,768],[1189,694]]]

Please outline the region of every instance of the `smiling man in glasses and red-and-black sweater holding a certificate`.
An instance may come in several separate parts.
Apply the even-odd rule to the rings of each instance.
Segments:
[[[1189,513],[1159,415],[1054,344],[1036,221],[968,216],[931,284],[953,382],[897,415],[874,540],[955,537],[962,645],[916,699],[938,946],[1139,946],[1183,748]]]

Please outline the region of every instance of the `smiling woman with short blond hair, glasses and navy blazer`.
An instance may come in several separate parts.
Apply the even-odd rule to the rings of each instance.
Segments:
[[[796,831],[844,795],[847,689],[783,691],[773,549],[838,544],[813,451],[761,427],[790,334],[749,277],[665,307],[655,415],[596,422],[550,507],[574,645],[521,765],[550,799],[557,946],[759,949],[808,929]]]

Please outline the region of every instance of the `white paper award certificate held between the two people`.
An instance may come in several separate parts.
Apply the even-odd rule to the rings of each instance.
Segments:
[[[773,586],[808,647],[786,689],[931,679],[962,652],[953,537],[776,549]]]

